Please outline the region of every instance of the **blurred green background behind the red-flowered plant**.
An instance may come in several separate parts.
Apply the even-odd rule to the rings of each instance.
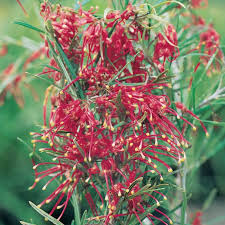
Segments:
[[[0,40],[1,43],[4,43],[4,40],[14,43],[9,48],[8,55],[0,58],[0,71],[11,62],[15,62],[17,55],[26,56],[30,52],[30,46],[35,48],[41,42],[38,33],[13,24],[13,21],[19,19],[40,27],[38,4],[35,3],[38,0],[21,0],[21,2],[30,15],[27,18],[24,17],[16,0],[0,0]],[[64,4],[66,1],[62,2]],[[107,4],[106,1],[95,0],[91,1],[89,5],[96,5],[96,3],[100,6]],[[212,22],[221,34],[222,45],[225,43],[224,9],[224,0],[209,0],[209,7],[199,10],[206,21]],[[35,40],[35,42],[30,44],[30,40],[27,38]],[[24,48],[20,47],[21,44]],[[31,145],[29,132],[37,130],[37,126],[42,124],[42,100],[47,84],[40,79],[33,78],[31,74],[37,71],[41,71],[41,65],[38,63],[36,71],[30,70],[28,76],[31,80],[30,84],[38,92],[40,101],[35,102],[31,93],[24,89],[22,90],[25,96],[24,109],[19,108],[10,95],[7,95],[5,104],[0,106],[0,225],[19,224],[18,219],[32,222],[31,218],[35,224],[46,223],[28,204],[28,201],[38,204],[38,200],[44,199],[47,193],[40,191],[40,184],[34,190],[28,191],[34,178],[32,163],[28,147],[18,140],[19,137]],[[220,109],[219,114],[224,114],[224,109]],[[221,134],[222,128],[219,129],[218,135]],[[223,137],[222,134],[221,140]],[[197,144],[201,145],[201,141]],[[213,188],[218,190],[217,195],[222,199],[225,196],[224,178],[225,151],[219,151],[211,160],[206,161],[202,169],[193,177],[193,199],[201,202]],[[50,190],[48,189],[48,191]],[[222,207],[224,207],[223,204]],[[64,218],[68,217],[68,214]]]

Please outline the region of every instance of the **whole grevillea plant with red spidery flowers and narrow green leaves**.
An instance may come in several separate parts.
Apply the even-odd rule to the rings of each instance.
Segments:
[[[62,224],[70,201],[76,225],[185,224],[186,197],[174,192],[181,185],[185,193],[185,183],[174,177],[185,171],[190,135],[199,124],[209,136],[192,111],[202,79],[194,74],[212,76],[223,66],[219,34],[193,11],[207,1],[114,0],[103,15],[77,4],[75,10],[42,2],[45,30],[17,22],[40,32],[44,43],[24,68],[45,55],[49,65],[39,76],[51,81],[43,126],[31,132],[30,189],[41,180],[46,192],[56,187],[31,205],[54,224]],[[190,79],[182,77],[184,70]],[[20,81],[16,77],[3,93],[14,94]],[[181,203],[172,208],[174,196]],[[52,204],[49,214],[46,204]],[[181,219],[174,216],[179,207]]]

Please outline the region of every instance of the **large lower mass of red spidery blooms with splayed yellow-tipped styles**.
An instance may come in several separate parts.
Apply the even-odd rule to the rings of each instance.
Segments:
[[[187,147],[188,141],[168,119],[168,115],[196,129],[170,107],[168,96],[152,93],[163,86],[167,84],[149,83],[137,87],[118,84],[110,87],[106,96],[95,97],[90,102],[75,100],[67,92],[53,95],[49,122],[44,118],[42,132],[32,133],[34,145],[48,145],[41,148],[40,152],[49,154],[50,159],[54,156],[53,162],[34,164],[36,179],[31,188],[46,177],[49,180],[43,190],[55,179],[61,177],[62,180],[39,206],[58,198],[50,214],[62,208],[60,219],[79,183],[87,193],[88,203],[96,216],[94,219],[101,219],[104,224],[109,224],[113,218],[125,216],[119,213],[121,196],[124,198],[123,204],[128,205],[126,214],[134,214],[139,221],[147,208],[154,204],[158,207],[157,198],[166,199],[164,194],[154,189],[154,194],[138,194],[142,187],[136,182],[149,173],[157,174],[163,180],[165,171],[172,172],[167,159],[178,163],[185,160],[182,146]],[[54,93],[54,88],[51,87],[47,92]],[[44,104],[47,104],[46,100]],[[182,110],[191,114],[186,108]],[[140,165],[148,169],[142,170]],[[166,170],[158,169],[160,165]],[[44,169],[46,166],[47,169]],[[105,196],[99,185],[104,186]],[[91,189],[99,196],[100,208],[91,201]],[[107,214],[99,215],[106,205]],[[156,211],[163,214],[159,209]],[[160,219],[148,213],[146,216],[151,220]],[[171,223],[166,215],[163,216]]]

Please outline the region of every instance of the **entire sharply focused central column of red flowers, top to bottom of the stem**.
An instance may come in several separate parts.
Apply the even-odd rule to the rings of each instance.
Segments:
[[[50,58],[44,72],[55,85],[46,90],[44,126],[31,133],[34,150],[41,144],[39,151],[49,155],[49,161],[33,160],[31,189],[46,177],[43,190],[58,178],[60,184],[39,207],[58,198],[50,215],[62,209],[60,219],[75,190],[82,188],[90,220],[107,225],[134,215],[140,224],[144,218],[172,224],[159,208],[167,199],[160,187],[172,165],[186,158],[186,126],[196,130],[185,116],[199,120],[167,95],[166,62],[179,57],[174,26],[168,24],[164,33],[152,37],[143,25],[148,14],[139,15],[131,4],[98,18],[94,8],[76,12],[45,2],[41,15]],[[153,53],[141,46],[144,41],[154,45]]]

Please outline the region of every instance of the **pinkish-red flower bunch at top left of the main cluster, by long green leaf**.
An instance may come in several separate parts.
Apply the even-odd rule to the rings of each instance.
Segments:
[[[51,24],[49,32],[59,41],[63,51],[74,64],[80,63],[80,57],[83,53],[79,46],[80,37],[78,36],[78,30],[82,29],[85,24],[96,21],[92,14],[93,12],[85,12],[82,8],[79,10],[79,13],[75,13],[73,9],[61,7],[60,5],[56,5],[54,8],[47,2],[41,4],[41,16]],[[49,43],[45,41],[45,45],[46,54],[50,57]],[[61,74],[58,72],[59,67],[55,59],[51,59],[50,66],[55,67],[56,70],[45,68],[43,73],[49,73],[50,77],[54,78],[55,81],[59,81]]]

